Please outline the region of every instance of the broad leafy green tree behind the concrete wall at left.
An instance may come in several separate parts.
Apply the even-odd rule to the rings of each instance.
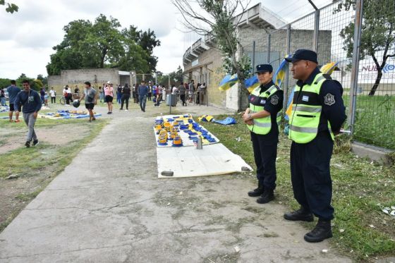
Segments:
[[[63,41],[54,47],[55,54],[47,65],[49,75],[62,69],[119,68],[121,71],[150,73],[155,71],[157,58],[154,47],[160,45],[154,32],[138,31],[137,27],[121,29],[116,18],[100,15],[95,23],[74,20],[63,30]],[[147,43],[147,44],[144,44]]]

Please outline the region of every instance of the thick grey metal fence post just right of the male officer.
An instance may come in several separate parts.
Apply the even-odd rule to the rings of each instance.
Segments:
[[[358,71],[360,55],[360,35],[362,29],[363,0],[356,2],[356,20],[354,27],[353,68],[351,69],[350,106],[348,109],[348,128],[353,135],[353,126],[356,118],[356,95],[358,89]]]

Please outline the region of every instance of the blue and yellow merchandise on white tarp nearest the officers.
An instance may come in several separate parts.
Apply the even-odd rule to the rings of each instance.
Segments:
[[[201,137],[203,145],[219,142],[199,123],[193,121],[190,114],[158,116],[154,123],[157,147],[195,146]]]

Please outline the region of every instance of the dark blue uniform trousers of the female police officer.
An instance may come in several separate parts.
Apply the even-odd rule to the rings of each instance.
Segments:
[[[255,164],[257,165],[257,179],[265,185],[265,189],[276,188],[276,158],[277,142],[268,143],[262,135],[251,133]]]

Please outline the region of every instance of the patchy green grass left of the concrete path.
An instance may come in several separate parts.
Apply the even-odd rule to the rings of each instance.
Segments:
[[[64,125],[65,123],[77,123],[86,125],[88,131],[82,135],[75,136],[76,140],[63,145],[61,147],[50,145],[47,143],[40,143],[37,147],[20,147],[6,154],[0,154],[2,164],[0,166],[0,178],[6,178],[11,174],[18,174],[20,178],[28,178],[32,176],[39,176],[45,172],[45,176],[40,181],[40,184],[33,192],[20,193],[16,195],[15,199],[22,202],[30,202],[39,192],[51,182],[63,169],[71,163],[73,158],[83,149],[89,142],[91,142],[107,125],[108,120],[98,119],[95,123],[86,123],[86,120],[50,120],[40,118],[37,121],[35,128],[53,127]],[[9,128],[13,123],[6,121],[0,122],[0,128]],[[13,126],[15,128],[15,126]],[[22,126],[20,128],[25,128]],[[4,180],[4,179],[3,179]],[[8,226],[9,223],[18,215],[20,211],[13,211],[8,216],[6,221],[1,222],[0,232]]]

